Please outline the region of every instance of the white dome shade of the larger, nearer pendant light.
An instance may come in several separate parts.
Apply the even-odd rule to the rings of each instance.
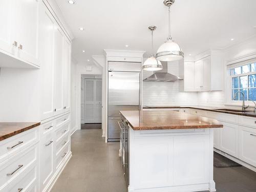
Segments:
[[[175,61],[184,57],[180,46],[176,42],[168,39],[157,50],[156,58],[160,61]]]

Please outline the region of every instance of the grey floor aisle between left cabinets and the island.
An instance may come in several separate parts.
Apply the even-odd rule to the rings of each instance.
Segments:
[[[101,130],[77,130],[71,136],[72,158],[51,192],[126,192],[119,143],[105,143]]]

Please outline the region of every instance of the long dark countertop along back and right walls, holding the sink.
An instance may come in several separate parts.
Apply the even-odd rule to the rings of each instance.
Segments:
[[[224,108],[210,107],[210,106],[143,106],[143,109],[184,109],[184,108],[205,110],[205,111],[218,112],[218,113],[227,113],[227,114],[233,114],[233,115],[243,115],[248,117],[256,117],[256,113],[254,113],[253,111],[249,111],[249,112],[222,111],[221,109],[224,109]]]

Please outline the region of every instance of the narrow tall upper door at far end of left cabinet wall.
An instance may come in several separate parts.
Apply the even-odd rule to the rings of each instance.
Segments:
[[[71,45],[66,38],[63,41],[63,108],[70,111],[70,63]]]

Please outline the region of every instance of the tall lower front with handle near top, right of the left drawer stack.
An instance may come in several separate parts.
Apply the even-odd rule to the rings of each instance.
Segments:
[[[45,135],[40,141],[40,191],[44,191],[54,174],[53,133]]]

